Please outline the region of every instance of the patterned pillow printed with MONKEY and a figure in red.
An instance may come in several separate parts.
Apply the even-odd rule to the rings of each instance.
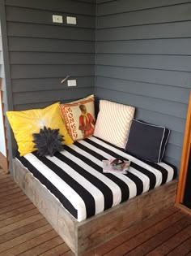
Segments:
[[[60,104],[60,111],[70,137],[74,141],[93,135],[96,124],[94,95],[78,102]]]

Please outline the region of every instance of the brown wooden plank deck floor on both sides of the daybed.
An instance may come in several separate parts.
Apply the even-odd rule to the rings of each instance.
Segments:
[[[128,214],[128,213],[127,213]],[[11,176],[0,171],[0,255],[74,256]],[[86,256],[191,256],[191,215],[171,207]]]

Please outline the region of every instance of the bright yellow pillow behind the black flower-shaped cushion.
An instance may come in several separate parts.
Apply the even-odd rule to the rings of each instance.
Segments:
[[[59,102],[44,109],[8,111],[6,116],[14,132],[21,156],[36,150],[35,144],[32,142],[32,134],[40,132],[40,128],[44,128],[44,126],[51,129],[59,128],[59,133],[64,136],[64,143],[66,145],[73,143],[62,121]]]

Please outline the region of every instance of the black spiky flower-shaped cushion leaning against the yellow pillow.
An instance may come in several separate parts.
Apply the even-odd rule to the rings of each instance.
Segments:
[[[53,156],[56,152],[63,150],[63,136],[59,134],[59,129],[51,129],[44,127],[39,133],[33,133],[34,147],[40,156]]]

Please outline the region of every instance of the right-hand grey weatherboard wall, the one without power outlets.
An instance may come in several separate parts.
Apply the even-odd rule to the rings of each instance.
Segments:
[[[97,1],[96,96],[170,128],[165,159],[176,167],[191,89],[190,2]]]

